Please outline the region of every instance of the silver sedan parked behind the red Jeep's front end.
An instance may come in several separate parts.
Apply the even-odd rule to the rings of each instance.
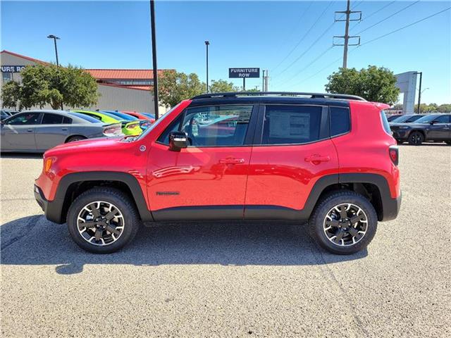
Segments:
[[[122,134],[121,124],[70,111],[24,111],[1,121],[1,151],[44,152],[58,144]]]

